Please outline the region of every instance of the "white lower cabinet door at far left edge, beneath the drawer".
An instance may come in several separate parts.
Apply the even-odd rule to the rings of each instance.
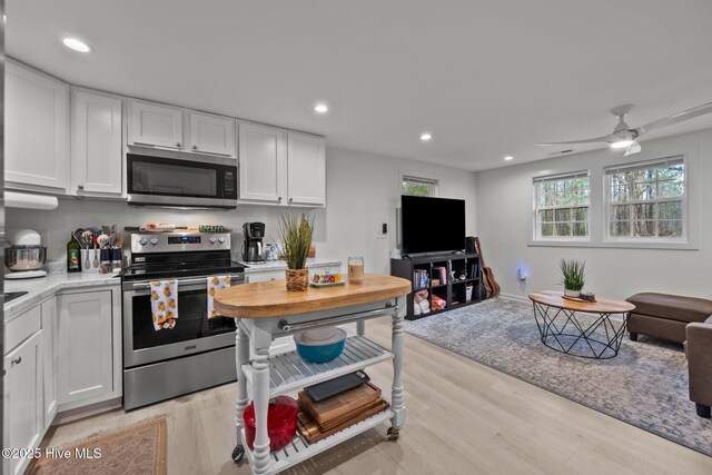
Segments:
[[[3,447],[34,448],[43,429],[42,333],[39,330],[8,353],[3,376]],[[30,458],[6,458],[3,474],[21,474]]]

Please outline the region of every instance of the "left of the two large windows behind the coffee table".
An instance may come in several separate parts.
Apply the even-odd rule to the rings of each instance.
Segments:
[[[534,178],[535,239],[589,238],[590,206],[587,171]]]

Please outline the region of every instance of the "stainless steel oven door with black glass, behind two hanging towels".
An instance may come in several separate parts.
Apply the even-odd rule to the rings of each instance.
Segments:
[[[231,276],[233,285],[243,276]],[[178,318],[172,329],[154,328],[150,283],[123,283],[123,367],[162,362],[235,345],[235,319],[207,316],[206,277],[178,279]]]

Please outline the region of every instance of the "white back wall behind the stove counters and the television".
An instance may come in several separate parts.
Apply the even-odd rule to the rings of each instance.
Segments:
[[[315,217],[315,244],[318,258],[339,259],[364,256],[367,271],[389,273],[389,250],[396,245],[395,208],[398,206],[400,172],[425,174],[439,180],[442,197],[466,200],[467,234],[474,231],[475,175],[413,160],[327,148],[326,209],[307,210]],[[126,201],[62,198],[53,211],[8,208],[8,237],[32,228],[42,235],[49,260],[63,260],[69,234],[77,227],[117,224],[139,226],[147,222],[181,225],[216,224],[234,228],[236,257],[241,249],[241,226],[246,221],[266,224],[267,236],[279,239],[278,222],[285,209],[240,205],[233,211],[178,211],[129,208]],[[298,212],[298,211],[297,211]],[[437,217],[424,217],[437,226]],[[383,222],[388,235],[377,238]],[[267,239],[270,241],[270,239]],[[343,268],[345,270],[345,267]]]

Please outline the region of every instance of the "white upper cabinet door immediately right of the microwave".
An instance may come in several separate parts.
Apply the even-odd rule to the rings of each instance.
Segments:
[[[286,202],[287,133],[254,123],[240,123],[240,190],[247,202]]]

